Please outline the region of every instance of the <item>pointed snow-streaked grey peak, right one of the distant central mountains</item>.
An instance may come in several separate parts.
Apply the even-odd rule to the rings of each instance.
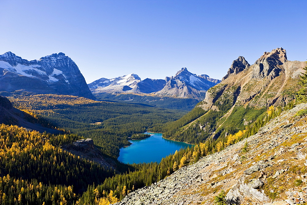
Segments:
[[[175,96],[181,98],[204,99],[210,87],[220,83],[220,80],[209,78],[208,75],[196,75],[181,68],[175,76],[165,78],[166,84],[156,95]]]

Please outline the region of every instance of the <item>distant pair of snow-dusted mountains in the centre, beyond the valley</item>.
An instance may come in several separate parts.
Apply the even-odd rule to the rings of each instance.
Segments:
[[[88,84],[93,94],[99,93],[146,93],[159,96],[172,96],[181,98],[204,99],[206,91],[220,83],[208,75],[196,75],[182,68],[173,77],[165,79],[141,80],[136,74],[107,79],[101,78]]]

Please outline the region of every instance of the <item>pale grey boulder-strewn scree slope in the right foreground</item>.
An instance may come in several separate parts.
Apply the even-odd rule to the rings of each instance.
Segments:
[[[213,204],[225,190],[227,204],[292,205],[307,202],[307,117],[300,104],[260,131],[202,157],[116,204]],[[245,143],[248,152],[242,153]],[[242,157],[244,156],[244,157]]]

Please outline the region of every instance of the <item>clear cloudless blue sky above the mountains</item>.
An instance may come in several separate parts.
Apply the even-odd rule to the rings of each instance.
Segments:
[[[0,0],[0,53],[64,52],[87,83],[129,73],[164,79],[182,67],[221,79],[238,56],[253,64],[285,48],[307,59],[307,1]]]

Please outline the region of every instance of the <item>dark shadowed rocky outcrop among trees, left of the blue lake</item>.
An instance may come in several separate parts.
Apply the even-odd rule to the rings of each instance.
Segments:
[[[115,169],[116,167],[115,162],[110,158],[104,157],[102,153],[95,147],[94,141],[90,138],[80,139],[72,144],[63,145],[62,149],[74,155],[95,161],[106,168]]]

